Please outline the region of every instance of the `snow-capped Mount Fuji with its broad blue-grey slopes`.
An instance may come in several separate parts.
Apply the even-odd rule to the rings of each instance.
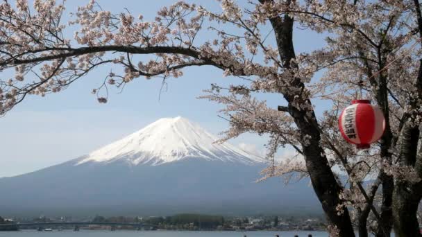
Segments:
[[[217,140],[182,117],[159,119],[88,155],[1,178],[0,214],[321,213],[309,180],[256,183],[264,159]]]

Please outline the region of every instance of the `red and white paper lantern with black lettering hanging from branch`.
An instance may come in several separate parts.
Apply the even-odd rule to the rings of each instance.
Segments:
[[[341,136],[357,148],[370,148],[385,130],[384,114],[379,107],[371,105],[371,100],[353,100],[339,117]]]

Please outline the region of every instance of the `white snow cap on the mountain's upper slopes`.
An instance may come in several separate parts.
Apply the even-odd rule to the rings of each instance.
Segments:
[[[76,166],[87,162],[108,164],[115,161],[124,161],[133,166],[156,166],[186,158],[250,165],[264,162],[262,158],[230,143],[214,143],[218,139],[180,116],[164,118],[91,152],[78,161]]]

